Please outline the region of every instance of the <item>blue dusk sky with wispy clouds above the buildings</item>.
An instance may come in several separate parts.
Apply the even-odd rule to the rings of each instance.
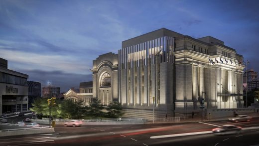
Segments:
[[[218,38],[259,71],[259,0],[0,0],[0,58],[66,92],[99,55],[162,27]]]

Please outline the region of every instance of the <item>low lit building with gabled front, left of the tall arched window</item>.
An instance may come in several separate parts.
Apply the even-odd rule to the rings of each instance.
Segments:
[[[79,90],[71,88],[64,94],[65,100],[84,101],[85,105],[92,103],[93,99],[93,82],[81,82]]]

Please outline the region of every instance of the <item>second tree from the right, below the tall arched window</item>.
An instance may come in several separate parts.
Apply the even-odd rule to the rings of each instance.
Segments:
[[[103,116],[103,105],[101,105],[101,100],[98,100],[96,98],[94,98],[92,100],[92,103],[90,103],[90,107],[89,107],[90,111],[89,114],[95,118],[101,117]]]

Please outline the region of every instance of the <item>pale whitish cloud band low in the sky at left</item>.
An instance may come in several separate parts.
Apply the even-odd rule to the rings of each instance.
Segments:
[[[13,69],[63,70],[66,73],[80,72],[87,74],[89,69],[92,68],[92,62],[86,64],[82,60],[79,61],[77,57],[2,49],[0,49],[0,52],[1,57],[8,60],[8,66]]]

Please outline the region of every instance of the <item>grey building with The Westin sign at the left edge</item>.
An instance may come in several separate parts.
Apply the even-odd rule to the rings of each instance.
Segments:
[[[7,69],[0,58],[0,115],[28,110],[28,75]]]

